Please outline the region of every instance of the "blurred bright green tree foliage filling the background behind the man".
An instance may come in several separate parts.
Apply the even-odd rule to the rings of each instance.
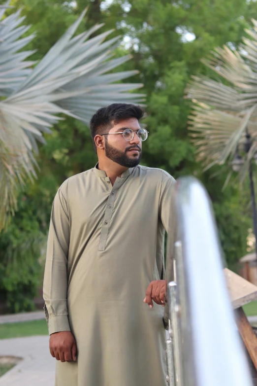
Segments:
[[[144,83],[140,91],[147,95],[145,123],[150,135],[143,146],[142,164],[161,167],[175,178],[193,174],[203,181],[214,203],[226,261],[234,266],[246,252],[247,229],[251,226],[249,193],[246,190],[242,194],[235,186],[228,186],[222,192],[226,175],[217,174],[211,178],[211,173],[218,169],[202,173],[188,136],[191,105],[184,99],[184,90],[191,75],[209,74],[200,59],[208,56],[211,49],[223,44],[238,46],[250,19],[257,18],[257,2],[13,0],[12,4],[24,7],[26,23],[32,23],[37,31],[37,38],[28,47],[38,50],[32,59],[40,59],[87,5],[86,28],[96,22],[105,22],[100,32],[116,28],[110,37],[121,35],[123,42],[117,49],[117,56],[127,52],[133,56],[118,70],[139,70],[131,81]],[[24,240],[30,237],[39,240],[47,235],[52,201],[60,184],[68,176],[96,164],[88,128],[72,118],[55,125],[53,134],[45,139],[47,144],[39,146],[37,157],[38,179],[20,193],[18,212],[5,234],[0,234],[0,277],[5,277],[12,269],[18,272],[16,279],[10,276],[9,283],[0,282],[0,291],[8,297],[12,310],[29,309],[29,299],[36,293],[37,284],[40,286],[42,282],[39,246],[35,244],[33,258],[30,258],[21,248]],[[9,255],[17,253],[21,268],[19,264],[11,265],[13,259],[7,257],[7,252]],[[21,262],[27,259],[28,270],[24,272]],[[29,283],[29,294],[27,284],[21,288],[22,283]],[[23,295],[17,308],[14,306],[17,300],[12,299],[18,299],[20,293]]]

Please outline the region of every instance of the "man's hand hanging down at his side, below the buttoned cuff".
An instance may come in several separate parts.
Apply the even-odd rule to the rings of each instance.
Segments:
[[[54,332],[50,335],[49,348],[51,355],[61,362],[76,360],[77,345],[70,331]]]

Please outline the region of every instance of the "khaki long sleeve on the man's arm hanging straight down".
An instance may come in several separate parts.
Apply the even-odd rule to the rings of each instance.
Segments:
[[[67,312],[70,230],[67,203],[61,188],[55,196],[52,207],[43,283],[44,310],[49,335],[59,331],[70,331]]]

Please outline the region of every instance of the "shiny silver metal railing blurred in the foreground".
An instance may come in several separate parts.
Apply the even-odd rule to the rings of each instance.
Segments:
[[[168,283],[170,386],[252,386],[223,273],[212,205],[193,177],[178,181],[174,281]]]

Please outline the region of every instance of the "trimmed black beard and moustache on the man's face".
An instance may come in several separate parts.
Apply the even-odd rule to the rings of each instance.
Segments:
[[[126,168],[133,168],[138,165],[142,156],[142,150],[138,145],[130,145],[126,147],[125,152],[116,149],[108,143],[107,138],[105,138],[105,155],[110,160],[116,162],[121,166],[125,166]],[[128,157],[126,154],[129,149],[137,148],[139,150],[139,156],[135,156],[134,158]]]

